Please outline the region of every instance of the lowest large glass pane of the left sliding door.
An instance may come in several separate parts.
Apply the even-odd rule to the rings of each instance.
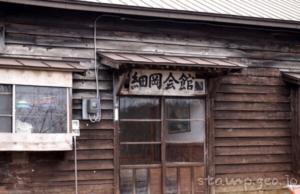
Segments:
[[[158,164],[160,163],[160,145],[121,145],[121,164]]]

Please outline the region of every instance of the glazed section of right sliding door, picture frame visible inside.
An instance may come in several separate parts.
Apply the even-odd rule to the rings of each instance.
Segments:
[[[203,161],[205,131],[204,101],[169,98],[165,100],[166,160]]]

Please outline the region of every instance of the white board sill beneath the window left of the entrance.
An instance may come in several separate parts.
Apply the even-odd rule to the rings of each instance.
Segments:
[[[69,151],[72,134],[0,133],[0,151]]]

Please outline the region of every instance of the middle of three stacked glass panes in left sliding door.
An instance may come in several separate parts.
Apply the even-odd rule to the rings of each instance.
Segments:
[[[160,122],[120,122],[120,141],[160,141]]]

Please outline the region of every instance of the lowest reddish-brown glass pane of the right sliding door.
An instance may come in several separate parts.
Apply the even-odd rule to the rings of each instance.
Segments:
[[[166,159],[168,162],[203,162],[203,144],[167,144]]]

